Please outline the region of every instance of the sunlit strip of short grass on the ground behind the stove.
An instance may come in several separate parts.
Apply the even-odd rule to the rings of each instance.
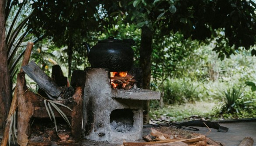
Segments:
[[[213,112],[217,104],[214,102],[196,101],[194,103],[183,103],[180,105],[165,105],[163,108],[150,110],[150,119],[163,119],[172,122],[183,122],[191,116],[202,119],[208,117],[208,114]]]

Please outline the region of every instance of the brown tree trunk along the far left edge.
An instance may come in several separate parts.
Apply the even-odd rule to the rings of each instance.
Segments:
[[[0,130],[5,126],[8,111],[10,108],[10,76],[7,65],[7,49],[5,43],[5,3],[0,0]]]

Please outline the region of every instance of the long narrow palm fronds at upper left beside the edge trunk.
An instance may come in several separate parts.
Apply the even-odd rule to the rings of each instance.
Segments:
[[[14,79],[17,73],[27,42],[38,41],[30,34],[31,30],[27,27],[27,21],[33,13],[29,7],[30,2],[29,0],[7,0],[5,8],[7,63],[11,79]]]

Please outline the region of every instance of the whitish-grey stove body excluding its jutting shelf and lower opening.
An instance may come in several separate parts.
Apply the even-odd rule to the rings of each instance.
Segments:
[[[107,69],[86,68],[85,72],[83,138],[111,143],[142,139],[142,100],[113,99]],[[132,110],[133,130],[121,133],[111,129],[110,115],[117,109]]]

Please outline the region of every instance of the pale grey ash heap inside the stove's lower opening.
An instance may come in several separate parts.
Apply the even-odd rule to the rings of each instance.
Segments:
[[[112,121],[110,124],[111,124],[111,129],[120,133],[129,132],[133,129],[133,125],[127,124],[125,122]]]

